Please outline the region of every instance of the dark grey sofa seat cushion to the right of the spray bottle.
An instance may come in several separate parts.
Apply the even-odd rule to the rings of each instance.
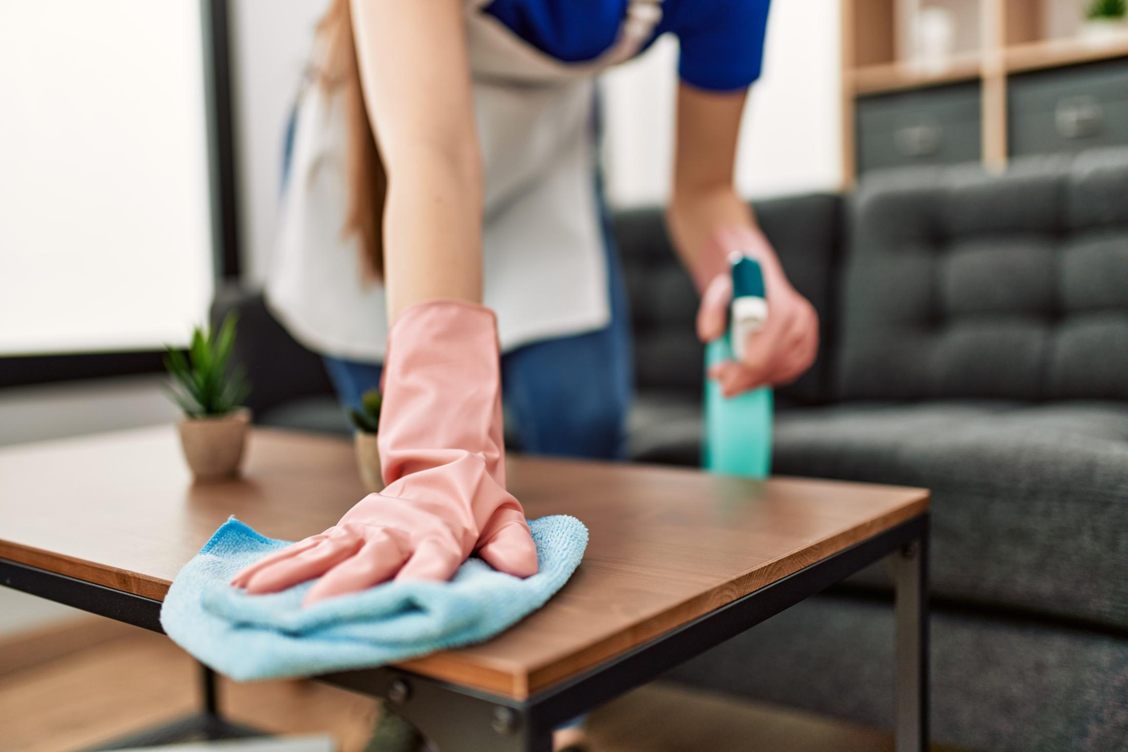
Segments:
[[[776,423],[773,471],[929,488],[937,596],[1128,628],[1128,405],[793,409]]]

